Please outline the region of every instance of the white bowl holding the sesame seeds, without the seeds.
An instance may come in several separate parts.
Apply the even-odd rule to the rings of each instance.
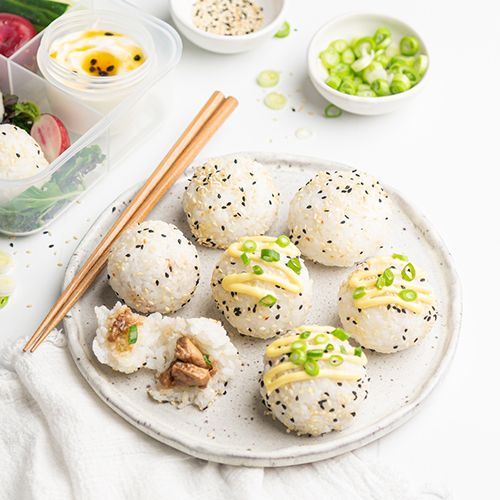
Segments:
[[[191,42],[202,49],[220,54],[246,52],[270,39],[285,21],[288,0],[256,0],[264,12],[264,24],[254,33],[241,36],[224,36],[207,33],[193,23],[193,0],[170,0],[172,19],[179,31]]]

